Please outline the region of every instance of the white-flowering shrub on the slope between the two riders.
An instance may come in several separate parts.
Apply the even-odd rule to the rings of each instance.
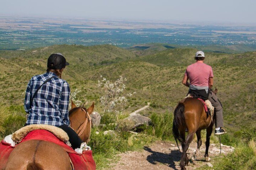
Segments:
[[[98,87],[104,91],[104,95],[100,97],[101,104],[104,106],[103,113],[121,113],[129,98],[135,94],[133,92],[133,94],[129,93],[122,96],[125,89],[124,82],[126,81],[127,79],[123,76],[120,76],[115,82],[110,82],[102,76],[101,80],[98,80]]]

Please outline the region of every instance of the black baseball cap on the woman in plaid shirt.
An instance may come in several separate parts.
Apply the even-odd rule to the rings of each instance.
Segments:
[[[68,65],[69,63],[66,62],[65,57],[60,53],[51,54],[47,61],[48,69],[59,70]]]

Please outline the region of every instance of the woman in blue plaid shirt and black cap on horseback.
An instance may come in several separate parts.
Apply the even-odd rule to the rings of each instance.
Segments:
[[[69,127],[70,88],[68,82],[61,79],[62,72],[67,65],[69,63],[66,62],[62,54],[50,55],[46,73],[33,76],[28,82],[24,109],[29,113],[26,125],[45,124],[57,126],[68,134],[69,142],[72,148],[75,149],[80,148],[82,140]],[[46,80],[47,82],[43,84]],[[40,87],[40,85],[42,86]],[[39,87],[40,89],[37,91]],[[34,96],[34,99],[30,103],[32,96]]]

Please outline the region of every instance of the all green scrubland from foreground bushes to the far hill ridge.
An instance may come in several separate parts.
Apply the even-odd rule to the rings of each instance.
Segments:
[[[116,153],[142,149],[155,140],[172,141],[173,110],[188,90],[181,80],[186,66],[194,63],[196,51],[194,48],[123,49],[111,45],[53,45],[25,51],[0,51],[1,138],[24,125],[26,114],[21,94],[27,82],[32,76],[46,71],[50,54],[61,52],[70,63],[62,78],[69,82],[72,92],[80,91],[76,97],[82,103],[89,105],[94,101],[98,113],[104,112],[100,100],[104,91],[98,87],[101,76],[112,82],[122,76],[126,79],[123,93],[136,92],[127,100],[122,113],[104,113],[101,124],[106,126],[93,128],[89,145],[97,167],[109,166],[117,160]],[[252,125],[256,119],[256,52],[205,54],[205,63],[213,67],[213,88],[218,88],[224,109],[228,134],[222,135],[222,143],[236,148],[225,158],[213,159],[214,165],[218,166],[215,168],[255,167],[256,128]],[[148,102],[150,107],[140,114],[150,117],[152,124],[141,127],[137,135],[127,132],[129,127],[122,120]],[[114,136],[103,135],[106,130],[117,131],[113,123],[123,124],[120,131]],[[217,141],[213,138],[212,142]]]

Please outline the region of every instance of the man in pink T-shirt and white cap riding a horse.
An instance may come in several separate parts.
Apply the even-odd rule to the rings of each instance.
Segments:
[[[220,103],[216,94],[210,90],[213,87],[213,69],[211,66],[203,63],[204,58],[203,51],[197,51],[195,57],[196,63],[187,67],[182,84],[189,87],[188,92],[193,97],[201,98],[203,100],[210,100],[216,113],[216,128],[214,134],[224,134],[226,131],[222,128],[222,104]]]

